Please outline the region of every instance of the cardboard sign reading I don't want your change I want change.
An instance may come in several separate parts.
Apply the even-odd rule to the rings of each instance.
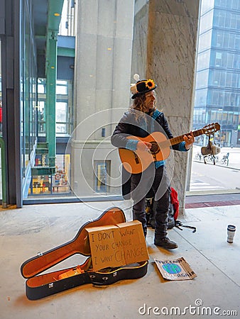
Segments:
[[[149,259],[143,228],[138,220],[86,230],[89,234],[93,271]]]

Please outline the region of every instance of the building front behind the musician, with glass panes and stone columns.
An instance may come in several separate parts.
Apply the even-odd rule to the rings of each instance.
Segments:
[[[6,203],[121,198],[110,137],[131,104],[134,73],[156,79],[173,134],[190,130],[199,0],[0,4]],[[187,154],[168,169],[184,208]]]

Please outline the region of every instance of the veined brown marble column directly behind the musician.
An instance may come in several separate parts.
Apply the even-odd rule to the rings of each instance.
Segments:
[[[132,74],[140,72],[158,84],[158,108],[174,136],[192,127],[199,9],[200,0],[149,0],[138,8],[134,20]],[[170,173],[174,170],[171,185],[178,191],[180,213],[190,154],[174,152],[174,160],[167,164]]]

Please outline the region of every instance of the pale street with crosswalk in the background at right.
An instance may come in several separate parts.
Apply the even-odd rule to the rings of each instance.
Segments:
[[[237,147],[222,147],[217,155],[216,164],[197,157],[201,147],[194,146],[192,152],[192,174],[190,191],[223,191],[240,190],[240,149]],[[229,164],[222,164],[221,159],[229,152]]]

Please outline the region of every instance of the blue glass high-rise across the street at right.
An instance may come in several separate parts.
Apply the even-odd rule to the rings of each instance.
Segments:
[[[239,0],[202,0],[193,126],[218,122],[226,147],[240,147],[239,30]]]

